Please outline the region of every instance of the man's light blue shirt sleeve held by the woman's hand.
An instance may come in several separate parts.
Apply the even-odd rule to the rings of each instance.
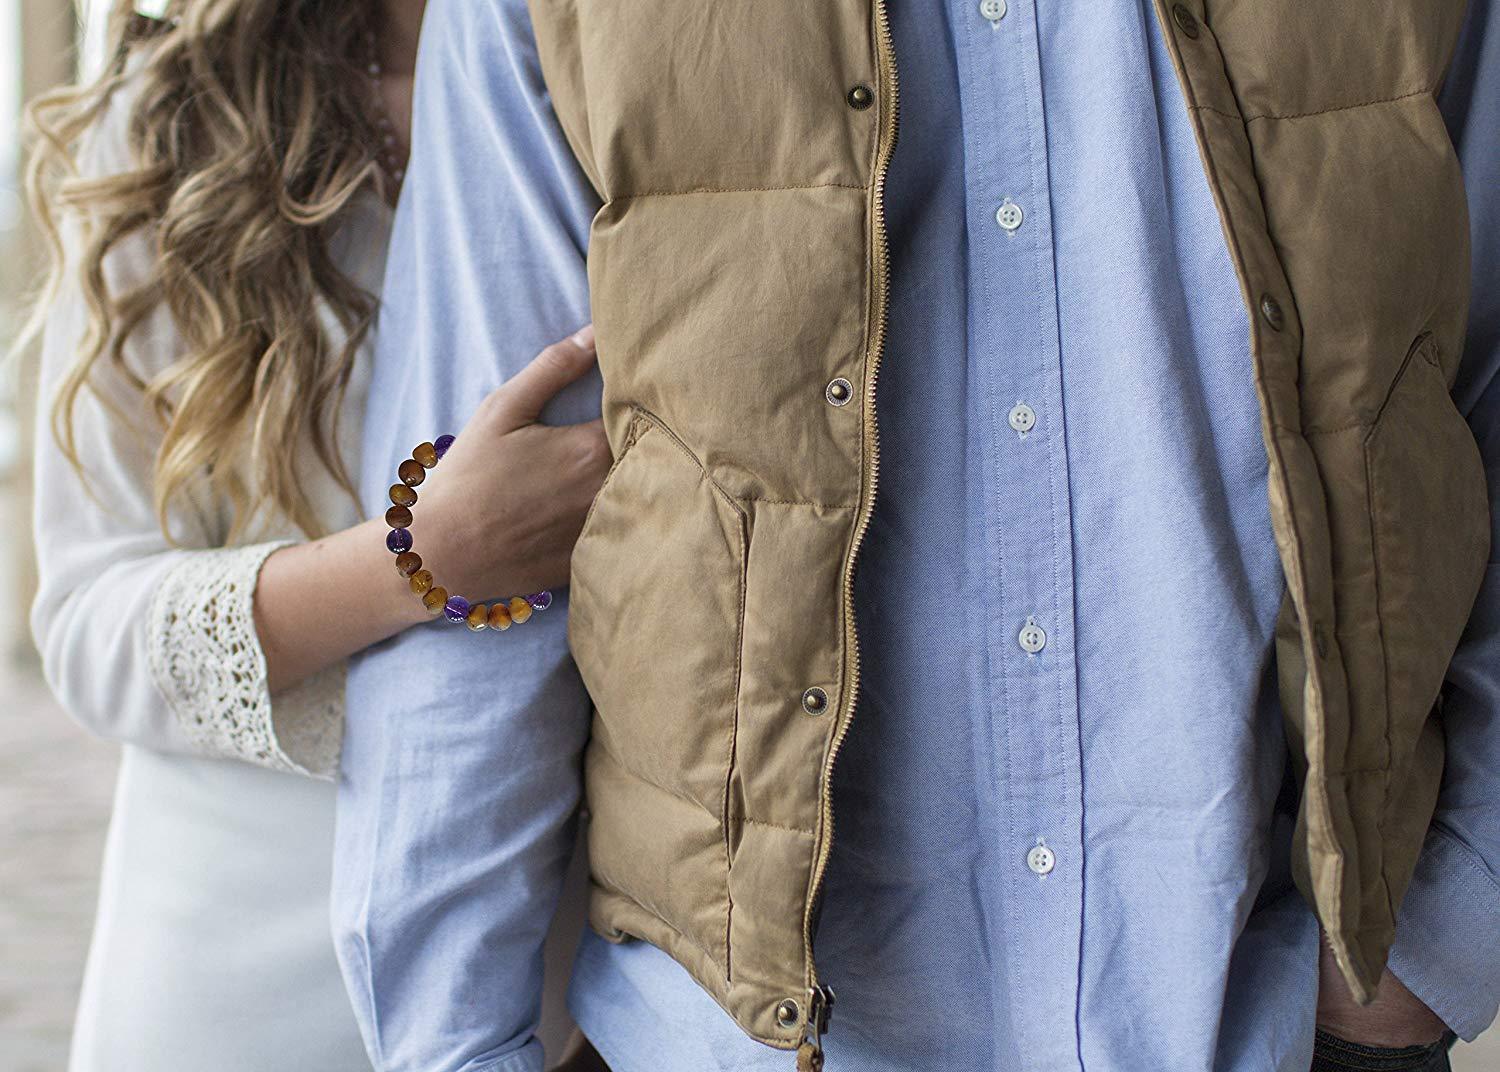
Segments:
[[[597,207],[524,0],[430,3],[364,426],[369,510],[412,445],[458,432],[590,319]],[[544,420],[597,417],[598,391],[574,385]],[[566,627],[560,594],[502,634],[434,622],[351,663],[332,910],[378,1069],[542,1069],[542,946],[590,720]]]

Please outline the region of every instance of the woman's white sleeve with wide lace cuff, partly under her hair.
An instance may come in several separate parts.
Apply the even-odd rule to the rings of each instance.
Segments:
[[[132,82],[82,151],[86,174],[130,166],[126,129]],[[64,247],[80,252],[76,225]],[[150,277],[144,232],[105,258],[112,294]],[[99,736],[159,751],[240,759],[273,769],[332,775],[342,720],[336,675],[272,703],[255,633],[261,564],[282,547],[267,541],[218,549],[219,511],[176,507],[162,532],[152,493],[160,426],[135,384],[180,357],[180,337],[158,309],[128,340],[123,367],[94,364],[74,409],[82,472],[52,433],[52,408],[87,331],[87,301],[69,279],[52,303],[42,340],[33,517],[39,588],[32,631],[48,682],[74,718]]]

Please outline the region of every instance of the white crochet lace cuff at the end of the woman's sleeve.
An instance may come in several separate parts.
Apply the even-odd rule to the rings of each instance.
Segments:
[[[198,550],[172,567],[147,615],[152,676],[200,753],[332,778],[344,738],[344,667],[273,705],[255,633],[261,565],[285,546]]]

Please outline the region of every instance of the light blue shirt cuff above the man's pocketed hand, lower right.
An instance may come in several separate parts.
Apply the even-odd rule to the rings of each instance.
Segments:
[[[1500,885],[1442,828],[1401,904],[1390,972],[1466,1042],[1500,1009]]]

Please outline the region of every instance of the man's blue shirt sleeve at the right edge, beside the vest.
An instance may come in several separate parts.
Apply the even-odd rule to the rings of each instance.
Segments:
[[[1455,399],[1490,478],[1490,568],[1449,669],[1448,768],[1390,970],[1464,1039],[1500,1009],[1500,10],[1472,0],[1442,94],[1464,165],[1473,297]]]

